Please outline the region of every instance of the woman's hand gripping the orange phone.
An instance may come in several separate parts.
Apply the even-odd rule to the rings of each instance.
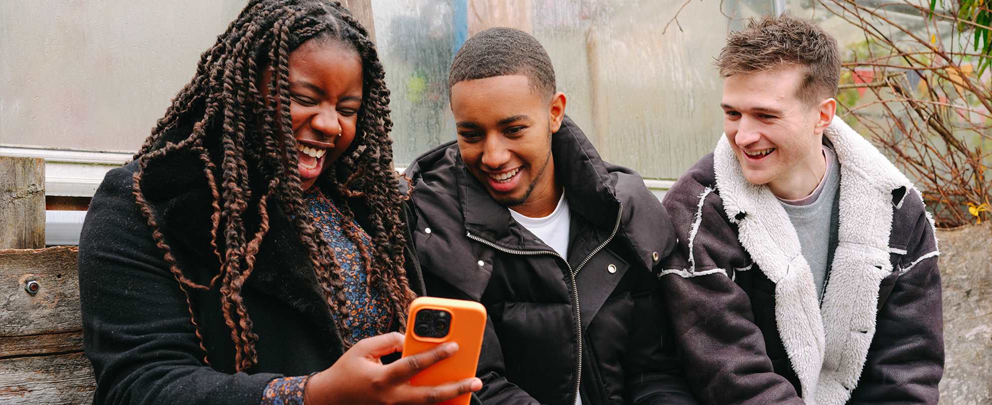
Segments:
[[[438,361],[457,354],[457,345],[442,345],[414,356],[383,364],[380,357],[403,350],[404,336],[393,332],[359,341],[330,368],[310,377],[306,405],[365,403],[434,404],[470,395],[482,388],[474,376],[415,386],[411,378]],[[475,354],[478,357],[478,354]],[[474,375],[474,374],[473,374]]]

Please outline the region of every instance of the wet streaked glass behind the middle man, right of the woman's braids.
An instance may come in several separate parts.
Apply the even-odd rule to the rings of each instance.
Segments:
[[[393,93],[397,164],[455,139],[447,69],[465,38],[510,26],[552,57],[567,114],[609,161],[677,178],[722,132],[712,66],[729,30],[771,1],[398,0],[376,2]]]

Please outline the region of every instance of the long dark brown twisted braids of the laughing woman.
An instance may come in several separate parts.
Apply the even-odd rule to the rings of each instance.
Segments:
[[[203,52],[192,80],[134,156],[139,161],[135,198],[186,295],[205,363],[206,349],[189,292],[214,288],[219,288],[224,321],[234,342],[235,369],[249,368],[258,361],[258,336],[252,332],[241,288],[269,231],[269,204],[273,202],[292,217],[337,330],[341,336],[349,335],[341,266],[321,232],[310,225],[290,116],[290,52],[317,39],[338,41],[358,52],[364,93],[352,147],[332,163],[318,184],[343,197],[362,198],[368,206],[372,246],[361,243],[357,228],[346,227],[345,235],[359,247],[369,285],[388,295],[390,310],[400,325],[406,324],[406,308],[416,297],[402,254],[407,242],[402,211],[406,195],[399,190],[393,166],[389,90],[368,32],[336,1],[252,0],[217,37],[216,44]],[[263,83],[265,71],[271,80]],[[186,277],[177,264],[141,188],[150,161],[179,151],[198,154],[212,195],[209,237],[219,267],[203,283]],[[339,205],[345,216],[353,217],[343,199]],[[250,208],[258,218],[251,217]]]

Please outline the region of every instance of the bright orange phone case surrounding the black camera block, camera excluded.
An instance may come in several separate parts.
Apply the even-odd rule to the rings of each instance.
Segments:
[[[444,310],[451,314],[448,333],[443,338],[426,338],[414,334],[417,312],[422,309]],[[482,350],[482,334],[486,329],[486,308],[475,301],[420,297],[410,304],[407,318],[407,338],[403,356],[419,354],[446,343],[458,344],[458,352],[419,372],[410,383],[413,385],[438,385],[475,376],[475,367]],[[467,405],[471,394],[459,395],[439,402],[444,405]]]

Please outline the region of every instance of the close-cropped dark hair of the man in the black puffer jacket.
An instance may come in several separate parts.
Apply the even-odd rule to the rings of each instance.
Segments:
[[[468,39],[451,61],[447,95],[451,87],[465,80],[522,74],[531,87],[545,97],[555,94],[555,67],[548,51],[530,34],[496,27]]]

